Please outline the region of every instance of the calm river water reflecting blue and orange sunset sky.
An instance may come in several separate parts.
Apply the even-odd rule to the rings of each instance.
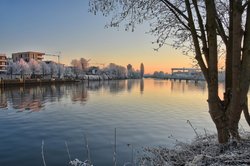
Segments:
[[[221,89],[223,85],[221,85]],[[204,82],[122,80],[0,90],[0,165],[67,165],[87,159],[85,137],[94,165],[112,165],[114,129],[118,165],[131,161],[141,147],[190,142],[195,133],[213,133]],[[242,126],[247,126],[244,121]]]

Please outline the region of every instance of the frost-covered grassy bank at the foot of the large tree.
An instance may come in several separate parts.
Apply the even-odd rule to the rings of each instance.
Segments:
[[[228,166],[250,165],[250,133],[242,140],[220,145],[217,135],[199,136],[191,144],[178,143],[174,148],[145,148],[138,165],[141,166]]]

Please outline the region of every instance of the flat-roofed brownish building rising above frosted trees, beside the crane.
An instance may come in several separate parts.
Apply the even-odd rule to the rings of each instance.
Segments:
[[[33,52],[33,51],[18,52],[18,53],[12,54],[12,59],[13,59],[13,62],[19,61],[21,58],[25,60],[26,62],[29,62],[30,59],[41,61],[43,60],[43,55],[45,55],[45,53]]]

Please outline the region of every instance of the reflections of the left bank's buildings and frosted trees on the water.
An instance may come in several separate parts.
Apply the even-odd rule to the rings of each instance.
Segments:
[[[11,87],[1,89],[0,108],[8,106],[18,111],[40,111],[46,103],[60,102],[65,96],[69,96],[73,103],[85,104],[88,101],[88,91],[107,91],[117,94],[131,91],[140,85],[140,92],[144,91],[143,80],[113,80],[93,81],[64,85],[39,85],[25,87]]]

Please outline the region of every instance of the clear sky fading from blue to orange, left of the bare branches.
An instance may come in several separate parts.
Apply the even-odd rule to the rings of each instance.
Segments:
[[[181,50],[164,46],[154,51],[148,24],[134,32],[105,28],[111,17],[93,15],[88,8],[88,0],[0,0],[0,53],[11,57],[22,51],[60,52],[60,62],[66,65],[79,58],[90,60],[90,65],[131,64],[135,69],[143,63],[145,73],[192,66]]]

